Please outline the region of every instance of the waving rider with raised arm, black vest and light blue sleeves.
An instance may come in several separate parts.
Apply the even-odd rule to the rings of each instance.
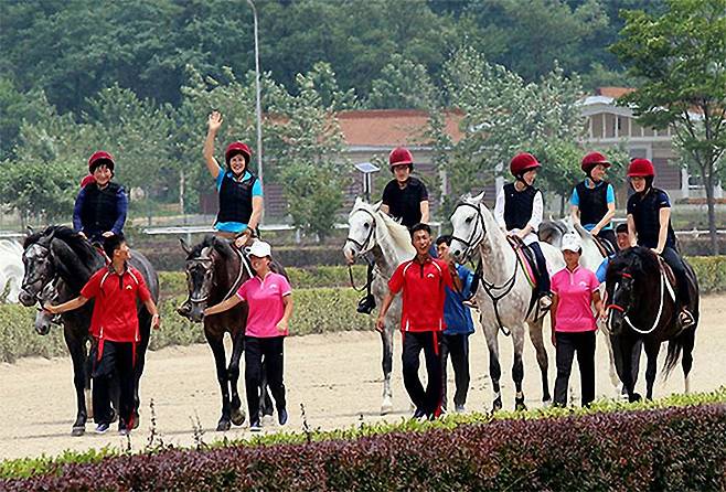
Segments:
[[[212,111],[209,117],[204,140],[206,169],[216,180],[220,196],[220,211],[214,228],[220,236],[235,238],[242,247],[259,225],[263,216],[263,186],[259,179],[249,171],[252,150],[243,142],[232,142],[224,152],[226,170],[214,158],[214,138],[222,126],[222,115]]]

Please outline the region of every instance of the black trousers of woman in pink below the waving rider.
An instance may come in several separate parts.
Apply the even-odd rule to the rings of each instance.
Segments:
[[[286,409],[285,384],[282,383],[285,336],[245,336],[245,392],[249,421],[259,421],[259,397],[263,371],[267,377],[277,410]],[[263,359],[265,364],[263,366]]]

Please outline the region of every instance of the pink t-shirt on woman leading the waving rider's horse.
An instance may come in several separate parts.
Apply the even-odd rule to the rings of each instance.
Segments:
[[[287,335],[287,330],[277,330],[277,323],[285,313],[282,298],[290,293],[292,289],[287,278],[273,271],[264,279],[255,276],[244,282],[237,290],[237,297],[249,306],[245,334],[260,339]]]

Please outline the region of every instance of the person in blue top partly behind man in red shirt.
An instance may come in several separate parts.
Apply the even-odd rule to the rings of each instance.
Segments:
[[[438,257],[445,261],[449,259],[449,245],[451,236],[440,236],[436,239]],[[441,340],[441,408],[446,408],[446,366],[449,354],[453,365],[456,393],[453,405],[456,411],[465,411],[467,393],[469,392],[469,335],[474,332],[471,311],[463,301],[471,297],[474,282],[473,272],[457,264],[457,272],[461,279],[461,291],[446,287],[446,301],[444,302],[444,321],[446,330]]]

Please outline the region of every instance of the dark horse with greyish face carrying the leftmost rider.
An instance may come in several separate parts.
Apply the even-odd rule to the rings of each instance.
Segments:
[[[31,234],[23,244],[23,265],[25,276],[20,291],[20,302],[23,306],[33,306],[41,299],[47,299],[49,291],[54,302],[65,302],[77,297],[81,289],[99,268],[105,267],[104,256],[88,240],[73,229],[65,226],[50,226],[41,233]],[[138,269],[147,282],[154,302],[159,299],[159,278],[149,260],[143,255],[132,252],[129,261]],[[49,284],[52,286],[49,287]],[[138,304],[139,331],[141,341],[137,347],[137,363],[135,366],[135,421],[138,423],[139,409],[139,378],[143,372],[146,350],[149,344],[151,315],[143,307]],[[89,345],[94,343],[88,329],[93,313],[93,301],[83,308],[61,314],[63,336],[73,360],[73,382],[76,388],[77,414],[73,424],[73,436],[85,432],[88,419],[86,394],[90,391]],[[41,320],[42,321],[42,320]],[[40,334],[47,333],[50,323],[39,325]]]

